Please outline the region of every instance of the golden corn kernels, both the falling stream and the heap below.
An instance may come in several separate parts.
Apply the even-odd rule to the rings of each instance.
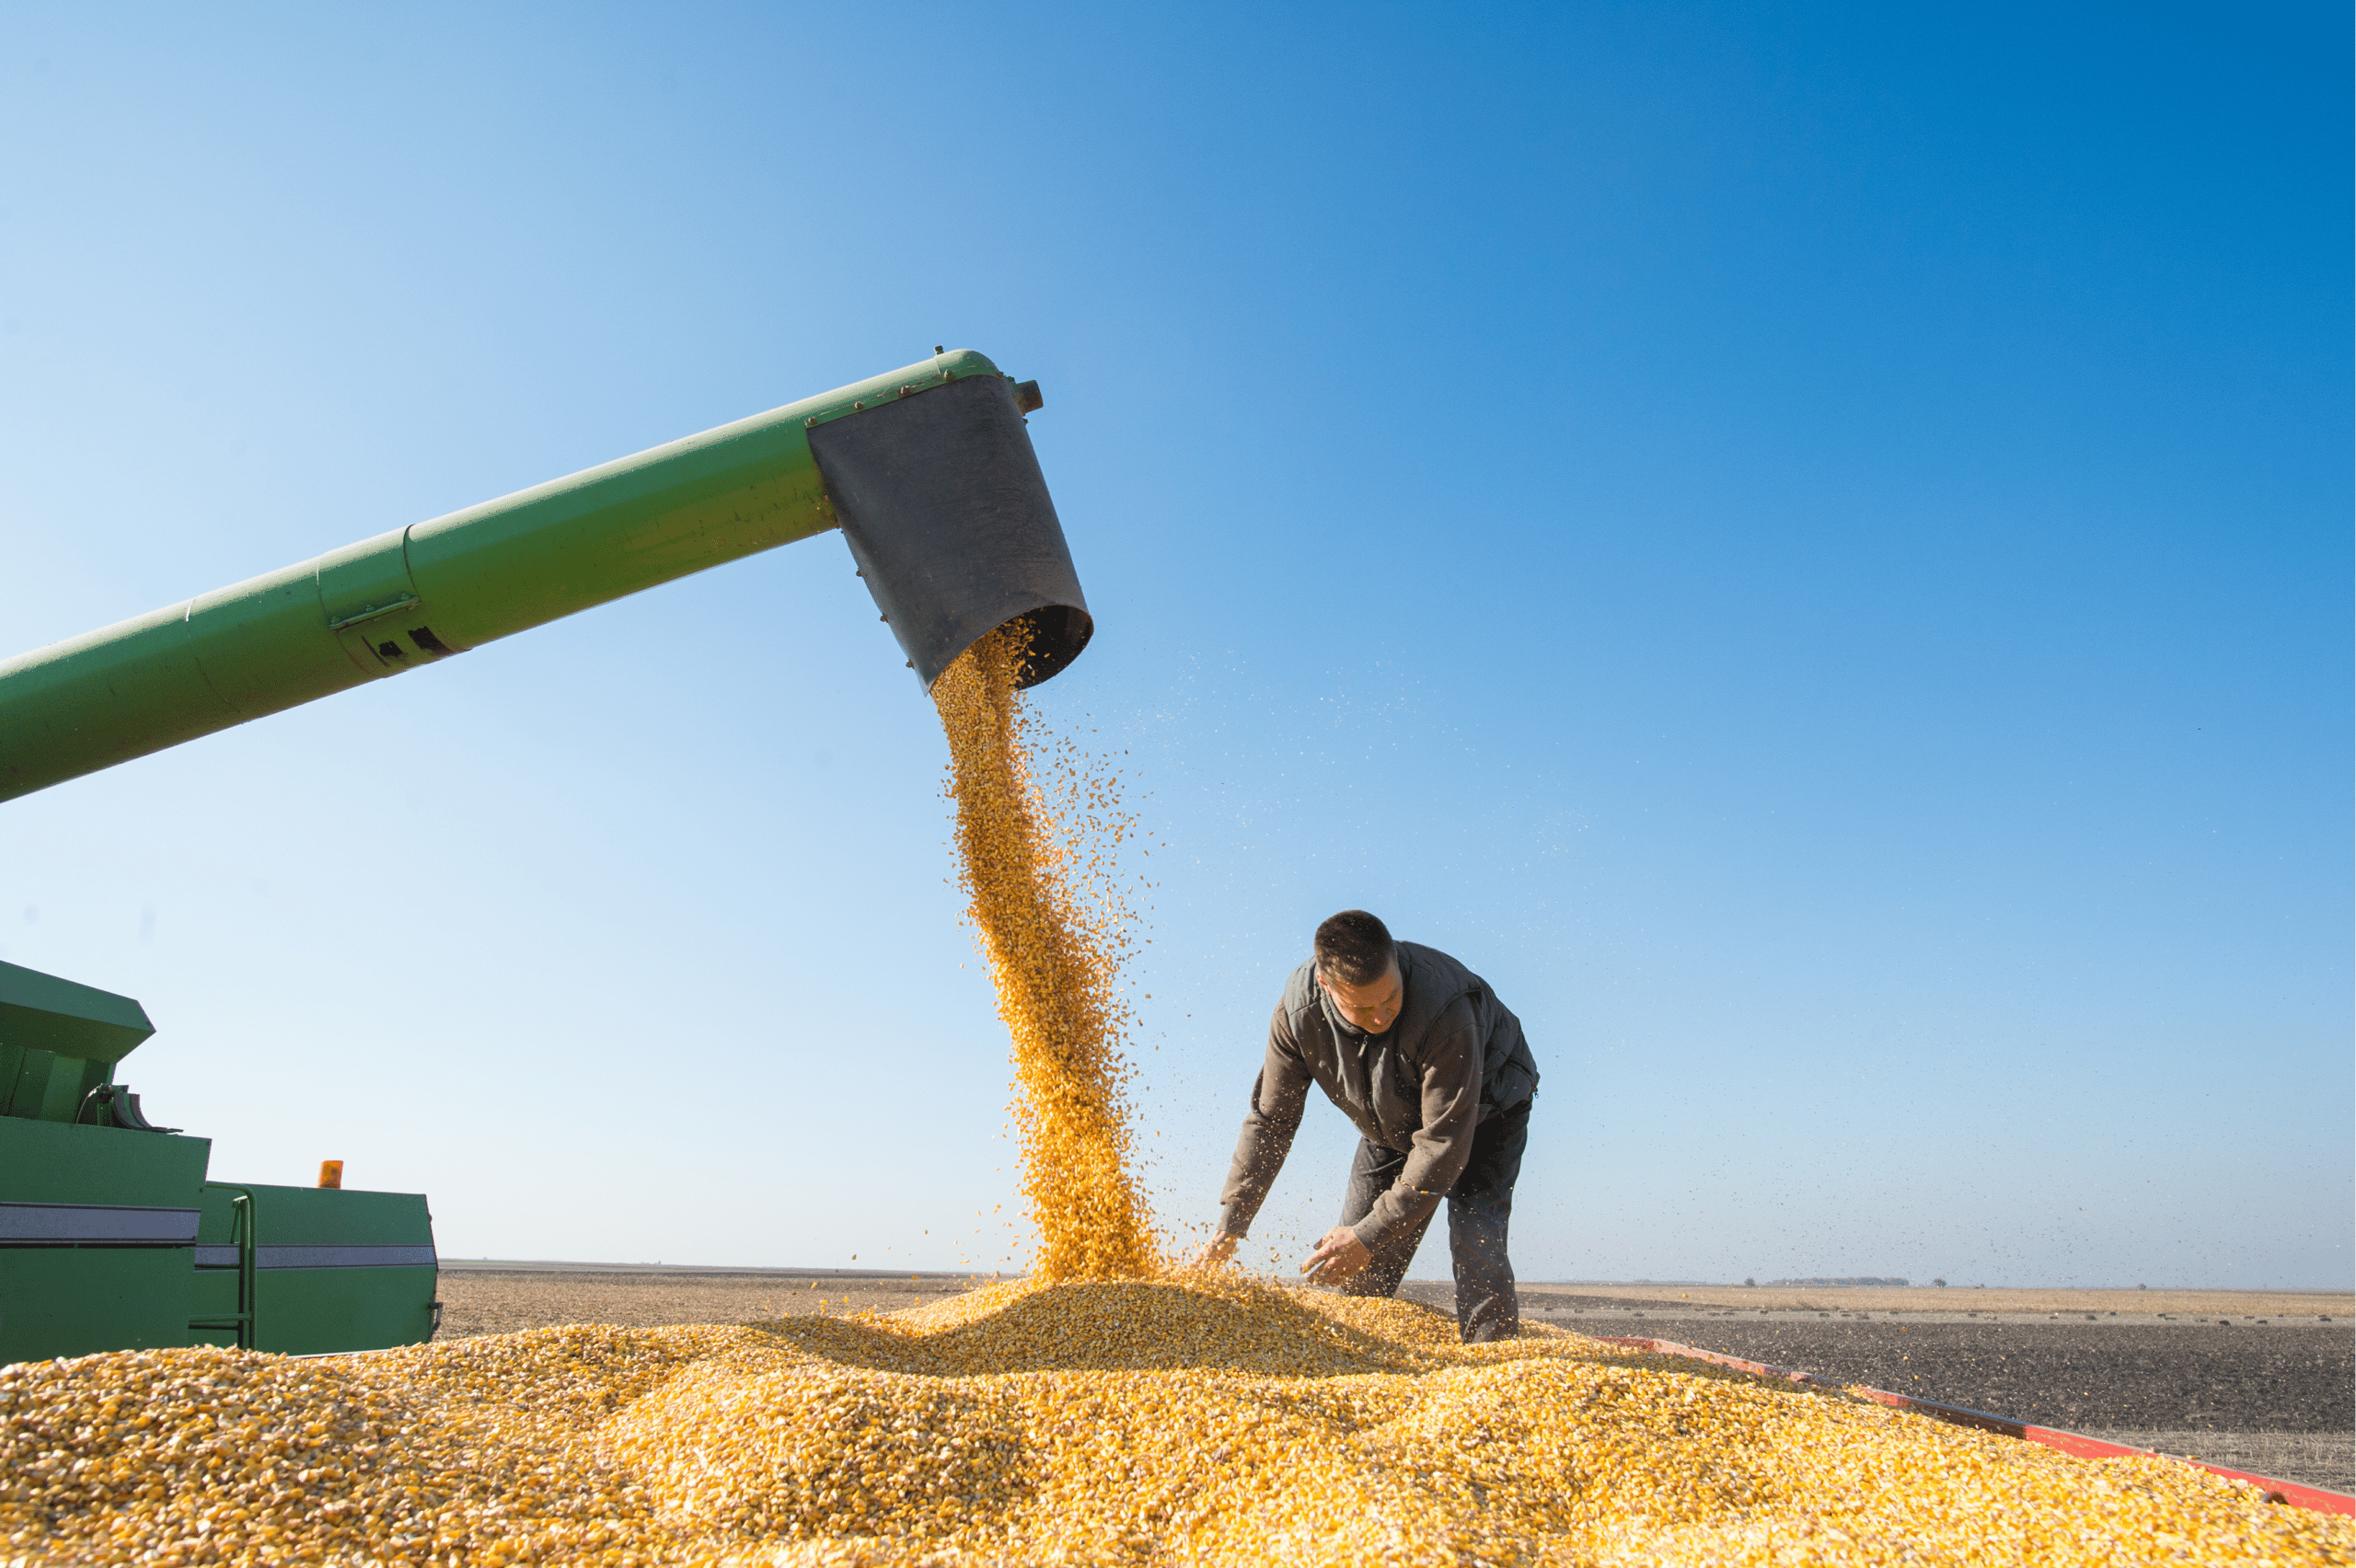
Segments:
[[[992,638],[938,683],[1025,1281],[888,1316],[0,1368],[0,1563],[2351,1563],[2170,1460],[1237,1271],[1129,1175],[1119,921]],[[1100,805],[1100,800],[1098,800]]]

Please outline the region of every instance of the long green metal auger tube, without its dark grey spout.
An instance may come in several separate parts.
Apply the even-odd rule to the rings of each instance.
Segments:
[[[19,655],[0,800],[825,532],[813,426],[997,374],[940,353]]]

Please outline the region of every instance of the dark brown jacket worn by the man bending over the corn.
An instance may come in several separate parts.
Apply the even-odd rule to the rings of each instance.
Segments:
[[[1407,1154],[1399,1180],[1352,1229],[1369,1248],[1423,1224],[1472,1158],[1472,1130],[1538,1088],[1522,1019],[1447,954],[1399,942],[1399,1017],[1383,1034],[1352,1029],[1317,984],[1315,961],[1284,982],[1268,1019],[1268,1055],[1220,1191],[1220,1234],[1244,1236],[1301,1130],[1310,1083],[1366,1142]]]

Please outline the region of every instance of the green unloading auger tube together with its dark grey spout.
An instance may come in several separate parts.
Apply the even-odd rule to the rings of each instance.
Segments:
[[[1086,645],[1015,384],[973,351],[412,523],[0,664],[0,800],[841,525],[919,680],[1030,617]]]

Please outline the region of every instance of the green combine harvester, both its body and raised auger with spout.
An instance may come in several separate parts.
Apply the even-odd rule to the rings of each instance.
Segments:
[[[38,647],[0,664],[0,800],[829,527],[926,687],[1008,622],[1034,685],[1093,631],[1037,407],[1037,381],[935,351]],[[127,996],[0,963],[0,1363],[429,1337],[424,1196],[205,1180],[210,1140],[115,1083],[148,1034]]]

